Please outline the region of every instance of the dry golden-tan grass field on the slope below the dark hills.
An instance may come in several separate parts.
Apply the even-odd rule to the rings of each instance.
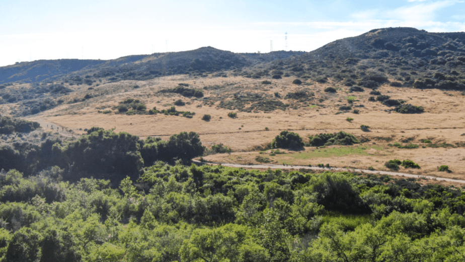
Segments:
[[[87,85],[68,86],[75,92],[63,96],[63,104],[28,119],[39,120],[42,126],[45,123],[58,125],[66,130],[72,130],[74,134],[83,134],[85,128],[92,126],[115,128],[115,132],[128,132],[141,138],[150,136],[166,139],[173,134],[193,131],[200,135],[203,145],[207,147],[222,143],[235,151],[230,155],[204,157],[205,160],[211,161],[257,163],[255,158],[263,155],[269,157],[273,163],[279,164],[323,163],[335,167],[371,166],[376,170],[385,170],[383,164],[387,160],[411,159],[418,163],[421,169],[401,168],[401,172],[465,178],[465,148],[463,147],[465,136],[462,136],[465,134],[463,114],[465,96],[460,92],[444,92],[438,89],[418,90],[391,87],[387,84],[379,87],[377,91],[389,95],[391,99],[403,99],[406,103],[422,106],[425,109],[422,114],[401,114],[391,110],[394,107],[388,107],[377,101],[368,101],[372,96],[369,94],[370,89],[364,89],[365,92],[349,92],[349,87],[343,86],[341,82],[332,81],[320,84],[303,80],[303,84],[295,85],[292,84],[294,79],[295,77],[268,79],[271,84],[262,84],[265,80],[263,78],[234,76],[193,78],[177,75],[148,81],[101,83],[92,86],[92,90],[89,90]],[[189,84],[189,88],[203,90],[204,97],[187,98],[174,93],[159,93],[163,89],[177,87],[179,83]],[[134,88],[135,85],[139,88]],[[216,88],[211,88],[215,86]],[[334,87],[337,92],[324,92],[327,87]],[[286,94],[298,90],[313,92],[315,96],[304,102],[284,99]],[[286,110],[245,112],[219,106],[220,100],[233,100],[235,94],[237,97],[247,93],[260,93],[274,97],[275,92],[280,95],[278,100],[289,104]],[[92,98],[72,102],[74,99],[83,98],[86,94],[91,94]],[[174,101],[181,99],[186,105],[176,106],[176,109],[195,112],[195,115],[193,118],[186,118],[160,113],[155,115],[115,113],[117,110],[114,107],[127,98],[139,99],[146,105],[147,110],[153,107],[157,107],[158,110],[168,109],[174,105]],[[348,98],[354,101],[349,103]],[[352,106],[352,110],[359,109],[359,113],[353,113],[352,110],[338,113],[342,105]],[[1,111],[8,113],[14,109],[14,106],[14,104],[10,107],[3,105]],[[105,110],[112,112],[102,113]],[[227,114],[233,111],[237,112],[237,117],[228,117]],[[210,114],[211,120],[202,120],[204,114]],[[353,120],[349,122],[346,120],[347,117]],[[370,132],[363,132],[360,129],[361,124],[370,126]],[[349,147],[354,152],[341,146],[323,149],[305,148],[305,151],[286,151],[286,154],[276,156],[269,156],[269,152],[266,151],[262,154],[260,151],[254,151],[270,143],[281,130],[292,130],[304,141],[309,135],[334,133],[340,130],[370,141],[362,146]],[[424,139],[430,140],[435,145],[446,143],[454,147],[431,148],[428,144],[421,143]],[[419,148],[398,149],[387,146],[395,142],[414,143],[418,144]],[[448,165],[453,172],[438,172],[437,166],[440,165]]]

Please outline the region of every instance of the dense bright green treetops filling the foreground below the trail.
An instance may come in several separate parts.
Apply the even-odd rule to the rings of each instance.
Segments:
[[[180,161],[118,188],[64,172],[0,172],[0,261],[464,258],[465,194],[440,185]]]

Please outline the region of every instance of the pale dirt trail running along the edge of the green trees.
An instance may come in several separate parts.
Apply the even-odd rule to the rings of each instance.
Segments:
[[[212,163],[212,162],[201,162],[198,160],[192,160],[192,162],[196,164],[214,164],[214,165],[222,165],[222,166],[229,166],[229,167],[243,167],[243,168],[273,168],[273,169],[311,169],[311,170],[337,170],[337,171],[349,171],[349,172],[360,172],[360,173],[369,173],[369,174],[379,174],[379,175],[395,175],[395,176],[405,176],[405,177],[413,177],[413,178],[425,178],[425,179],[432,179],[432,180],[439,180],[439,181],[447,181],[447,182],[456,182],[465,184],[465,180],[457,180],[457,179],[450,179],[450,178],[443,178],[443,177],[434,177],[434,176],[422,176],[422,175],[412,175],[406,173],[398,173],[398,172],[389,172],[389,171],[377,171],[377,170],[367,170],[367,169],[354,169],[354,168],[341,168],[341,167],[317,167],[317,166],[297,166],[297,165],[240,165],[240,164],[229,164],[229,163]]]

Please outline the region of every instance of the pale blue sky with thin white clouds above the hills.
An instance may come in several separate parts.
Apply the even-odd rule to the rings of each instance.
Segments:
[[[203,46],[239,53],[266,53],[271,47],[312,51],[384,27],[465,31],[465,3],[0,0],[0,66],[39,59],[114,59]]]

